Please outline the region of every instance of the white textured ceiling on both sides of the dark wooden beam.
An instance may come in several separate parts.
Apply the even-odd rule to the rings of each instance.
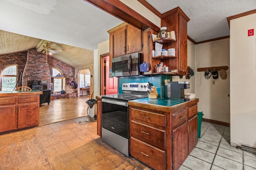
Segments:
[[[160,13],[180,6],[196,42],[229,35],[227,17],[256,9],[256,0],[146,1]],[[90,50],[122,22],[84,0],[0,0],[0,30]]]

